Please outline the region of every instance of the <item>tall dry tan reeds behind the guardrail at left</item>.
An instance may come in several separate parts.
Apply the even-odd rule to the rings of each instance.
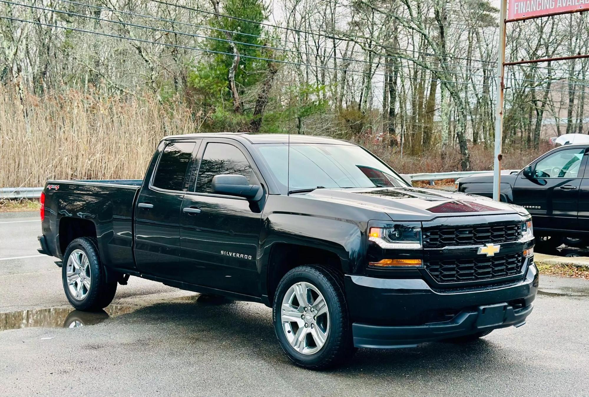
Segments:
[[[148,96],[96,100],[70,91],[27,95],[23,107],[14,90],[0,86],[0,187],[143,178],[162,137],[200,127],[188,108],[170,106]]]

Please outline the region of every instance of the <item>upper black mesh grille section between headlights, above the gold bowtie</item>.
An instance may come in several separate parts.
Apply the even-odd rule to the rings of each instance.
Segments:
[[[472,226],[436,226],[423,229],[423,248],[505,243],[522,236],[521,224],[504,223]]]

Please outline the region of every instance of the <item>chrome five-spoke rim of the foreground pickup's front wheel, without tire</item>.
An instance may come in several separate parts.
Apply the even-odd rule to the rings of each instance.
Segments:
[[[286,291],[280,320],[286,339],[297,352],[312,355],[325,345],[329,310],[325,298],[313,284],[299,282]]]

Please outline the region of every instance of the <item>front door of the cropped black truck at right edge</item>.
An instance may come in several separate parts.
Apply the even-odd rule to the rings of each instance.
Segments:
[[[514,204],[530,211],[534,228],[574,230],[578,226],[579,190],[586,161],[585,147],[563,147],[531,164],[530,177],[519,173]]]

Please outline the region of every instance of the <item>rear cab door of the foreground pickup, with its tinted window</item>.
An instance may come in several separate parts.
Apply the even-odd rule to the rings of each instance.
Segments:
[[[180,210],[200,140],[164,141],[135,204],[135,261],[141,273],[178,280]],[[148,170],[149,175],[149,170]]]

